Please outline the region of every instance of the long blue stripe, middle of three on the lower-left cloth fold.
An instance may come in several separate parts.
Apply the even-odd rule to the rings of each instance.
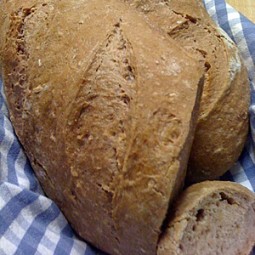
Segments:
[[[17,252],[22,251],[24,254],[35,254],[47,226],[56,219],[58,215],[59,210],[56,205],[52,203],[48,209],[36,216],[21,240]],[[14,255],[18,255],[17,252]]]

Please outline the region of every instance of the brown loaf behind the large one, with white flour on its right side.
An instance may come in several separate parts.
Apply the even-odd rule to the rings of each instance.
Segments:
[[[237,47],[212,22],[201,0],[126,2],[144,13],[151,27],[204,60],[206,80],[187,180],[221,176],[240,156],[248,132],[248,75]]]

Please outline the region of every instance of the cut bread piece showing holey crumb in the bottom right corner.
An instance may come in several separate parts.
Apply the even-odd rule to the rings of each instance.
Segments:
[[[177,200],[158,255],[249,255],[255,245],[255,194],[231,182],[202,182]]]

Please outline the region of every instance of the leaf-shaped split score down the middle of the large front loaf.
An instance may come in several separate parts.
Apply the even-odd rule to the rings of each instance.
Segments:
[[[86,180],[85,166],[94,169],[90,178],[109,200],[114,189],[110,183],[124,164],[137,86],[133,49],[121,22],[96,49],[77,86],[66,123],[67,153],[77,158],[70,162],[74,180],[78,176]],[[109,171],[107,177],[105,171]]]

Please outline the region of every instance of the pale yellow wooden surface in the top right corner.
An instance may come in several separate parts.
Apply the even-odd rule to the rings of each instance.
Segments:
[[[255,22],[255,0],[226,0],[226,2]]]

